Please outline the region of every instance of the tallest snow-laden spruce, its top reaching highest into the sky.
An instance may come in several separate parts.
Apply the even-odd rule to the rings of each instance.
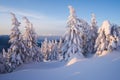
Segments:
[[[79,24],[80,20],[77,18],[74,8],[72,6],[69,6],[68,8],[70,10],[70,16],[67,21],[68,30],[63,37],[64,42],[61,49],[64,60],[68,60],[73,54],[83,56],[83,33],[80,32],[80,27],[82,26]]]

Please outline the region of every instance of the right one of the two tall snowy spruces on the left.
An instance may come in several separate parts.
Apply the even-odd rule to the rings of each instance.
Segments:
[[[23,35],[24,43],[27,49],[25,61],[26,62],[42,61],[43,56],[41,54],[39,47],[37,46],[37,35],[35,33],[33,25],[26,17],[23,17],[23,19],[25,21],[26,28],[25,33]]]

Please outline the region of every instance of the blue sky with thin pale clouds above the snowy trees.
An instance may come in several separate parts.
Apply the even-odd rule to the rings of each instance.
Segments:
[[[96,14],[98,25],[104,20],[120,25],[120,0],[0,0],[0,34],[10,34],[14,12],[20,22],[27,16],[38,35],[62,35],[72,5],[79,18],[90,23],[91,13]],[[24,26],[20,26],[24,31]]]

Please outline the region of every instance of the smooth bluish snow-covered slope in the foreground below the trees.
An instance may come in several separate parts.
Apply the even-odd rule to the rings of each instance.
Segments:
[[[25,64],[0,80],[120,80],[120,51],[69,62]]]

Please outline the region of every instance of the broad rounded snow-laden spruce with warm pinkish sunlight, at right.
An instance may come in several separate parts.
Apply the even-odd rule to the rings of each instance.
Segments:
[[[109,21],[104,21],[98,30],[95,49],[96,54],[101,55],[103,51],[112,51],[117,48],[117,31]]]

